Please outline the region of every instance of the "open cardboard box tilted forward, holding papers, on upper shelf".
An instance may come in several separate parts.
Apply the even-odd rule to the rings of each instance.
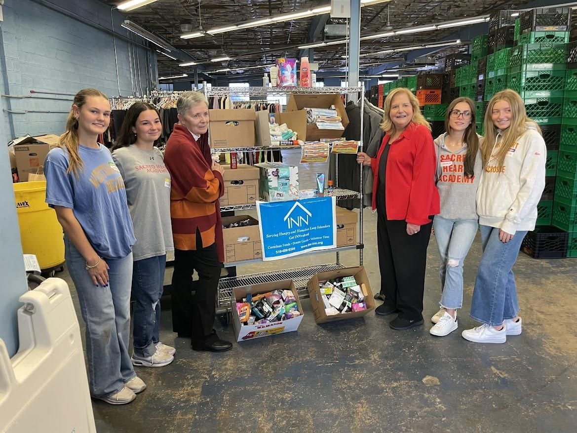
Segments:
[[[347,110],[344,108],[340,95],[290,95],[282,120],[288,128],[297,132],[299,140],[316,141],[320,139],[337,139],[343,135],[344,130],[319,129],[317,125],[306,123],[305,108],[328,109],[335,106],[335,110],[342,118],[344,128],[349,125]]]

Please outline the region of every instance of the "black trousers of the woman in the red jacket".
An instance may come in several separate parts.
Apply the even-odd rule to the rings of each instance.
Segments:
[[[433,223],[407,234],[407,222],[387,219],[385,195],[377,193],[377,246],[384,303],[399,310],[399,318],[421,320],[427,247]]]

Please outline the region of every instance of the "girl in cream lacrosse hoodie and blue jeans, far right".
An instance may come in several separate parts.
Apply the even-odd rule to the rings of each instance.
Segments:
[[[507,335],[521,333],[512,268],[527,231],[535,228],[537,203],[545,188],[545,141],[516,92],[507,89],[490,100],[481,152],[477,213],[483,255],[471,317],[482,326],[462,335],[478,343],[504,343]]]

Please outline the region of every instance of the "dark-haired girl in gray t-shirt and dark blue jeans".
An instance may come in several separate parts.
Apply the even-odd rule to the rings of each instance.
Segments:
[[[134,103],[126,113],[113,159],[126,185],[128,208],[134,225],[132,277],[132,364],[163,367],[176,350],[159,339],[160,297],[167,253],[174,251],[170,223],[170,173],[162,152],[154,146],[162,124],[155,107]]]

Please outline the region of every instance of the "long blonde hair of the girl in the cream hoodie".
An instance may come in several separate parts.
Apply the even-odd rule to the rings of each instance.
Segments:
[[[501,145],[499,151],[494,155],[499,161],[499,165],[503,165],[505,161],[505,155],[509,151],[509,148],[515,143],[516,140],[525,132],[527,129],[526,123],[531,122],[535,125],[535,129],[541,133],[541,128],[533,120],[527,117],[527,111],[525,110],[525,104],[523,99],[519,96],[517,92],[511,89],[505,89],[497,92],[493,98],[489,101],[487,106],[487,111],[485,113],[485,139],[481,144],[481,154],[483,155],[483,163],[486,165],[491,158],[493,153],[493,146],[495,145],[495,140],[499,129],[493,124],[491,113],[493,111],[494,105],[500,100],[507,101],[509,106],[511,106],[511,126],[501,133]]]

